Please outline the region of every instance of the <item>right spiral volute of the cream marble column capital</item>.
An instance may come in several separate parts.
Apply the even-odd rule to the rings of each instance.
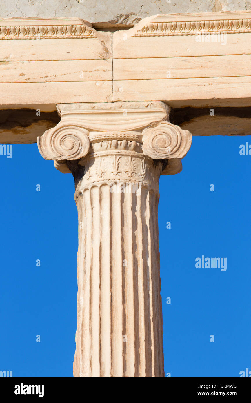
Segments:
[[[183,158],[191,143],[191,133],[170,122],[143,131],[143,152],[154,159]]]

